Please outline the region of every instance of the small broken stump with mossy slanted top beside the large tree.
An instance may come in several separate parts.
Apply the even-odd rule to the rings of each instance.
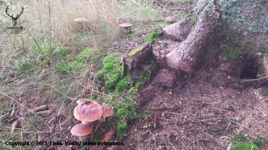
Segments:
[[[139,79],[156,74],[157,60],[153,54],[153,47],[145,42],[129,53],[128,72],[132,77],[131,83],[143,82]]]

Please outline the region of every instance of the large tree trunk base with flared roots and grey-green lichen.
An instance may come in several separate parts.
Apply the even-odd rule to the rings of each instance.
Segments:
[[[268,74],[268,0],[199,0],[184,19],[163,28],[185,39],[166,56],[190,74],[219,67],[246,79]]]

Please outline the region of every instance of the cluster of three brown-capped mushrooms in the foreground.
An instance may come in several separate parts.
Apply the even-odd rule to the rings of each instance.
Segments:
[[[75,125],[71,129],[71,133],[79,136],[81,142],[87,141],[87,135],[92,132],[92,124],[98,120],[99,124],[103,124],[105,117],[114,114],[114,110],[107,105],[99,105],[92,99],[77,100],[77,107],[74,110],[74,116],[82,123]]]

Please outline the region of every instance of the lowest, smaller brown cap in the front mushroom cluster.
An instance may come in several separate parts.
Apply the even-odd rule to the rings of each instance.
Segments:
[[[92,126],[86,123],[80,123],[71,129],[71,133],[76,136],[85,136],[92,132]]]

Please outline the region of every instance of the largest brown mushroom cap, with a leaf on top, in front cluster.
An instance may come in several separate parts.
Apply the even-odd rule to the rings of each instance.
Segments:
[[[85,122],[92,122],[97,120],[102,115],[102,108],[96,101],[89,103],[80,103],[74,110],[74,116]]]

